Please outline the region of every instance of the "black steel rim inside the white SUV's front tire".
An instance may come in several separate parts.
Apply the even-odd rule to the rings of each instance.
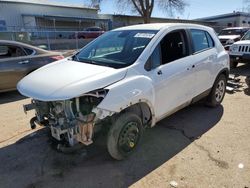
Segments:
[[[118,149],[123,154],[131,153],[137,146],[140,137],[140,130],[136,122],[127,123],[120,132]]]

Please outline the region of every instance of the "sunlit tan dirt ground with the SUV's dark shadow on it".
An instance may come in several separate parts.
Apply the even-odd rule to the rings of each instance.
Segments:
[[[250,66],[234,70],[242,81]],[[100,142],[76,154],[51,147],[32,131],[17,92],[0,94],[0,187],[250,188],[250,91],[243,85],[211,109],[195,104],[146,131],[140,150],[112,160]],[[178,185],[175,185],[175,184]]]

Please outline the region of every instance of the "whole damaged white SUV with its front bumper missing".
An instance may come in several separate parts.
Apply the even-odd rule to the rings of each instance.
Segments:
[[[35,124],[48,125],[64,147],[89,145],[107,131],[118,160],[138,146],[146,127],[207,97],[225,95],[229,56],[213,29],[192,24],[145,24],[107,32],[78,53],[21,80],[33,98]]]

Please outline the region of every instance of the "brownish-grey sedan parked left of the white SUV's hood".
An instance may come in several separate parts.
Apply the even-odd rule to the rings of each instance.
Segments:
[[[24,76],[43,65],[63,58],[60,52],[0,40],[0,92],[15,90],[17,82]]]

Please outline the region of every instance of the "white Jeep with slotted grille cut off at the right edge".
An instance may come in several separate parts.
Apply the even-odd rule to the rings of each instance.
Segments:
[[[238,63],[250,63],[250,31],[229,49],[230,67],[236,68]]]

